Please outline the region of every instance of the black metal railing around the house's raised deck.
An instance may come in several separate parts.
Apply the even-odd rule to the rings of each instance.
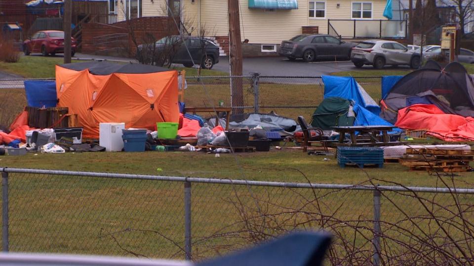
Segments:
[[[328,19],[328,34],[341,38],[399,38],[407,37],[406,20]]]

